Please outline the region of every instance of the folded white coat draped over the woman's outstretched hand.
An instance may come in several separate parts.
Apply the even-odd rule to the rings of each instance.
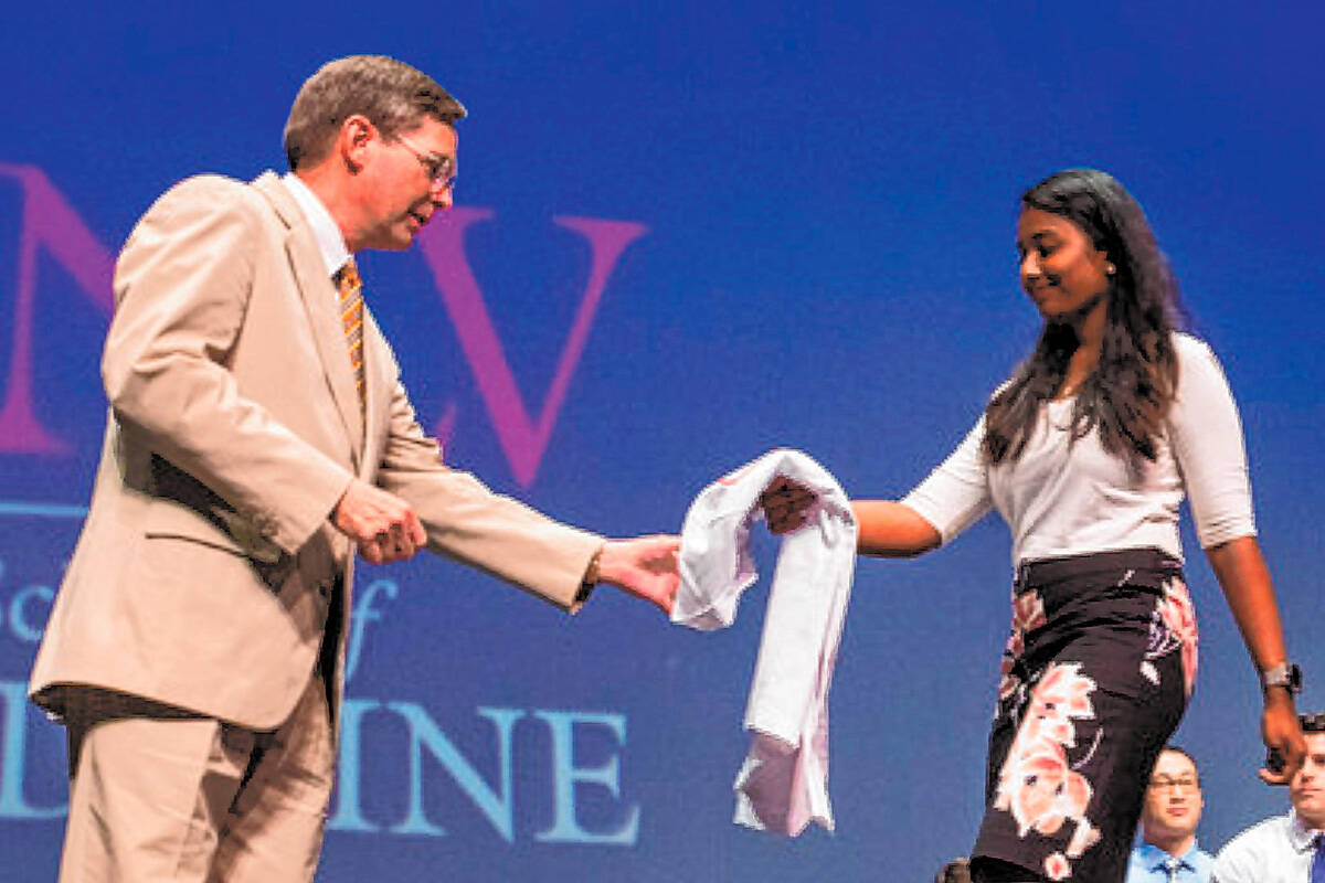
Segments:
[[[856,568],[856,519],[836,479],[806,454],[779,449],[704,488],[681,528],[672,622],[708,631],[735,621],[741,593],[759,576],[750,553],[759,495],[779,475],[808,488],[815,503],[804,526],[783,537],[774,569],[735,821],[795,837],[811,821],[833,829],[828,688]]]

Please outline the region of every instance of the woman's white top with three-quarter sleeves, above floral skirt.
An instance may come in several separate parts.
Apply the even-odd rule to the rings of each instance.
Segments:
[[[1134,471],[1100,443],[1072,442],[1071,398],[1040,406],[1022,455],[990,466],[984,417],[902,503],[949,543],[996,508],[1012,531],[1012,564],[1083,552],[1155,547],[1182,560],[1178,507],[1191,498],[1196,536],[1210,548],[1253,536],[1247,453],[1228,381],[1204,342],[1174,335],[1178,389],[1155,461]]]

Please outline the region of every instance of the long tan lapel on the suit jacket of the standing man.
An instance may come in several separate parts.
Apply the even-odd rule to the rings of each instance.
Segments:
[[[322,371],[327,388],[335,400],[337,410],[344,422],[346,436],[354,453],[355,466],[363,455],[363,412],[359,408],[359,392],[354,385],[354,371],[350,367],[350,353],[346,349],[344,330],[341,326],[339,298],[331,277],[326,273],[318,244],[313,238],[298,204],[286,192],[273,172],[265,172],[253,181],[262,196],[272,204],[277,217],[286,226],[285,253],[294,273],[295,287],[303,299],[303,308],[313,328],[318,355],[322,357]]]

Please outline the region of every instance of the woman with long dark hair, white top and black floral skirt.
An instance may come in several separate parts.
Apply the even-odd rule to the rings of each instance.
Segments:
[[[990,733],[975,880],[1124,879],[1155,756],[1196,670],[1178,507],[1261,673],[1281,784],[1302,756],[1279,608],[1256,541],[1242,425],[1210,348],[1177,330],[1177,286],[1141,207],[1109,175],[1022,195],[1032,355],[958,449],[900,502],[856,500],[860,552],[914,556],[996,508],[1012,531],[1012,627]],[[766,494],[794,527],[798,488]]]

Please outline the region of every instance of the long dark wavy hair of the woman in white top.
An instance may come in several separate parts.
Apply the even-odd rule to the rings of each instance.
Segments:
[[[1085,232],[1116,267],[1109,277],[1100,361],[1077,391],[1072,441],[1098,428],[1100,442],[1140,469],[1157,441],[1178,385],[1173,331],[1181,324],[1178,283],[1145,212],[1122,184],[1093,168],[1072,168],[1022,195],[1022,209],[1060,214]],[[1076,330],[1049,320],[1035,352],[1018,365],[984,409],[984,454],[1016,461],[1053,398],[1079,346]]]

